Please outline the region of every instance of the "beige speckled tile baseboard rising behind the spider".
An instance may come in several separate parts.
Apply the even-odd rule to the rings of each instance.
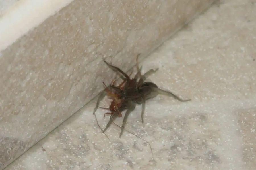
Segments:
[[[0,53],[0,169],[213,0],[73,1]],[[6,148],[8,149],[2,149]]]

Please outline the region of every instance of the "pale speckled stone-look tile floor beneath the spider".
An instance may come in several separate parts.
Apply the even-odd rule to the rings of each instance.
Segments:
[[[256,166],[256,4],[218,1],[141,62],[150,80],[191,102],[164,96],[111,126],[108,141],[92,115],[95,100],[9,165],[11,169],[253,170]],[[110,71],[111,72],[111,71]],[[108,105],[108,100],[101,103]],[[104,110],[96,115],[101,126]],[[119,118],[116,123],[121,124]]]

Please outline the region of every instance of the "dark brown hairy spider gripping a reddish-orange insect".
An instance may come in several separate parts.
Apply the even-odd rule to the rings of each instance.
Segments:
[[[127,118],[129,116],[129,114],[135,109],[136,104],[142,104],[141,120],[142,120],[142,122],[144,122],[143,115],[144,115],[144,110],[145,110],[145,101],[156,97],[158,94],[172,96],[181,102],[186,102],[186,101],[191,100],[191,99],[183,100],[183,99],[179,98],[177,95],[173,94],[172,92],[159,89],[158,86],[152,82],[144,82],[149,75],[151,75],[152,73],[155,73],[158,69],[156,69],[156,70],[150,69],[144,75],[141,75],[141,71],[138,66],[138,57],[139,57],[139,55],[136,58],[136,68],[137,68],[138,72],[133,79],[131,79],[126,73],[124,73],[118,67],[110,65],[109,63],[104,61],[108,65],[108,67],[110,67],[110,69],[121,74],[121,78],[126,81],[123,89],[118,88],[115,85],[110,85],[108,87],[108,88],[112,89],[113,91],[115,91],[123,99],[122,103],[119,103],[119,106],[120,106],[119,112],[122,112],[123,110],[127,109],[127,111],[125,112],[125,116],[123,119],[123,125],[121,128],[121,133],[120,133],[119,137],[121,137],[124,127],[125,127],[125,124],[127,122]],[[137,81],[138,76],[139,76],[139,80]],[[96,108],[94,109],[94,113],[95,113],[96,109],[98,108],[98,105],[99,105],[100,101],[103,99],[103,97],[104,97],[103,95],[100,95],[100,97],[98,98]],[[106,128],[103,130],[103,133],[108,129],[110,124],[117,118],[117,116],[118,116],[117,112],[113,112],[111,114],[110,121],[108,122]]]

